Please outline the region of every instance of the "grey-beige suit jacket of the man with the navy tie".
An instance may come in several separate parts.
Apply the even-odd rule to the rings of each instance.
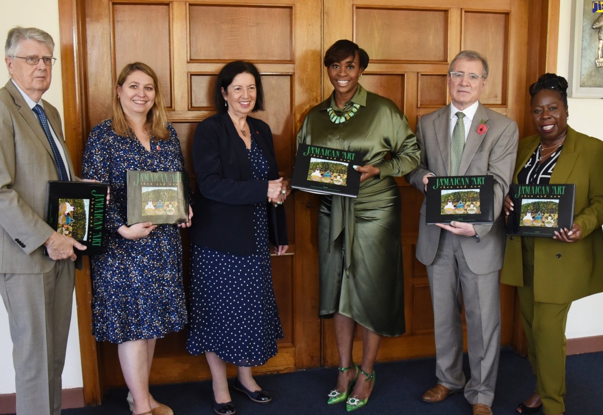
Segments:
[[[58,111],[46,101],[43,106],[75,179]],[[50,144],[36,114],[9,80],[0,89],[0,273],[41,274],[54,265],[42,253],[53,232],[45,221],[48,180],[59,180]]]

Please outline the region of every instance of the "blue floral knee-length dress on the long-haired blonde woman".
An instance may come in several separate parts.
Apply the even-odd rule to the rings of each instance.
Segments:
[[[106,246],[92,256],[92,334],[97,341],[164,337],[186,325],[182,285],[182,242],[175,225],[157,226],[147,238],[124,239],[117,229],[126,223],[126,171],[183,171],[180,141],[168,124],[169,139],[151,141],[147,151],[138,140],[118,136],[111,120],[96,125],[84,151],[82,176],[110,185]]]

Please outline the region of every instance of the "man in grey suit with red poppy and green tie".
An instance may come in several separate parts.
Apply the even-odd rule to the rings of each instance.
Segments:
[[[425,200],[417,259],[427,267],[434,305],[437,385],[423,401],[441,402],[464,387],[474,415],[491,415],[500,350],[499,270],[504,254],[502,202],[515,166],[516,122],[487,109],[479,96],[488,63],[477,52],[461,51],[450,63],[451,103],[421,116],[417,142],[420,165],[406,179],[425,191],[429,176],[494,176],[493,224],[425,224]],[[471,378],[463,373],[465,304]]]

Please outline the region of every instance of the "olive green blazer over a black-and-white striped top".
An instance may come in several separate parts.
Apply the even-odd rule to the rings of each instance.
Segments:
[[[538,135],[519,142],[513,183],[539,142]],[[603,142],[568,126],[551,183],[576,185],[573,221],[582,235],[570,244],[534,238],[534,300],[563,304],[603,291]],[[507,236],[500,282],[523,287],[520,236]]]

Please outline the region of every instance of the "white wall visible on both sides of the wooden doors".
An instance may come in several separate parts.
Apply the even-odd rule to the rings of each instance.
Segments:
[[[559,49],[557,74],[569,75],[569,39],[571,0],[561,0],[559,22]],[[39,27],[48,31],[58,43],[58,0],[5,0],[0,13],[0,40],[4,45],[7,31],[16,25]],[[60,59],[60,48],[55,48],[55,57]],[[2,68],[5,68],[2,66]],[[44,98],[63,114],[63,93],[60,63],[52,69],[53,81]],[[6,69],[0,71],[0,85],[8,80]],[[570,125],[581,131],[603,139],[599,115],[603,113],[603,100],[594,98],[569,99]],[[601,254],[603,255],[603,253]],[[602,276],[603,277],[603,276]],[[567,319],[567,338],[586,337],[603,334],[603,293],[573,303]],[[0,307],[0,394],[14,393],[14,370],[10,358],[12,344],[8,333],[8,320],[4,305]],[[80,347],[77,337],[77,318],[74,311],[67,348],[67,360],[63,372],[63,387],[75,388],[83,385],[81,376]]]

